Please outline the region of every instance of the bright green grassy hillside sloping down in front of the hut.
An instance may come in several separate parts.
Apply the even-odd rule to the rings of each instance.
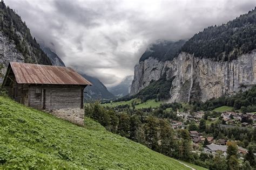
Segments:
[[[1,165],[2,164],[2,165]],[[0,169],[189,169],[165,155],[107,132],[85,128],[0,97]]]

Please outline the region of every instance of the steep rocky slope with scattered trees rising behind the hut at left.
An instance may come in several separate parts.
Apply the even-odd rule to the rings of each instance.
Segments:
[[[21,17],[3,1],[0,23],[0,83],[11,61],[52,65]]]

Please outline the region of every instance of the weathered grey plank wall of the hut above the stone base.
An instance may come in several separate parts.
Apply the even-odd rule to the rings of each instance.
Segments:
[[[37,109],[81,108],[84,86],[42,85],[29,88],[29,105]]]

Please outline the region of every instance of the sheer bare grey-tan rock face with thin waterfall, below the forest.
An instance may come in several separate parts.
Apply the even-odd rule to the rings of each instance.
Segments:
[[[175,76],[169,102],[206,101],[224,94],[234,94],[256,84],[256,50],[232,61],[196,58],[182,52],[172,61],[149,58],[134,67],[131,95],[165,75]]]

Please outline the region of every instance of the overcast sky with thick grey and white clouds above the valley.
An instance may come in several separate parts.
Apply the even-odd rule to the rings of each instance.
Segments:
[[[254,9],[237,1],[24,1],[5,0],[66,66],[113,86],[158,40],[188,39]]]

